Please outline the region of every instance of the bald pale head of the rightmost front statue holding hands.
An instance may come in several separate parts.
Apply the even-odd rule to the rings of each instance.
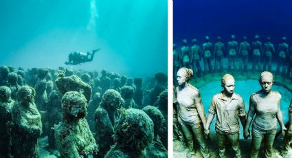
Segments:
[[[262,91],[265,93],[269,93],[271,91],[271,87],[273,86],[273,74],[269,71],[263,71],[260,74],[260,87],[262,87]]]

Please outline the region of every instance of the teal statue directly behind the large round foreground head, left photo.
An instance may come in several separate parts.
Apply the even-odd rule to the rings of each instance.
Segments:
[[[121,95],[122,98],[124,99],[124,108],[129,109],[129,108],[136,108],[137,109],[137,104],[133,100],[133,95],[134,95],[134,89],[131,86],[124,86],[121,89]]]

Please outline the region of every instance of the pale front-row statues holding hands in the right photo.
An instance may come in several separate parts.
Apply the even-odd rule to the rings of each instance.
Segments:
[[[278,124],[284,142],[282,155],[287,155],[291,139],[291,109],[289,108],[289,126],[284,125],[280,109],[281,95],[271,90],[273,74],[263,71],[259,82],[262,89],[251,94],[249,111],[246,113],[243,98],[234,92],[235,80],[230,74],[221,79],[223,91],[213,96],[208,115],[206,117],[201,101],[201,95],[196,87],[189,83],[193,76],[192,69],[182,67],[177,71],[177,84],[174,89],[174,139],[180,140],[188,146],[187,157],[194,155],[194,139],[199,144],[202,157],[210,157],[205,137],[210,137],[210,124],[216,117],[215,131],[218,144],[218,157],[226,157],[226,147],[231,146],[234,157],[241,157],[239,148],[239,124],[244,127],[244,137],[252,137],[250,157],[258,157],[260,146],[265,142],[265,157],[273,157],[273,141],[276,136]],[[238,122],[238,118],[240,123]],[[252,122],[251,132],[250,126]],[[186,142],[184,141],[186,138]]]

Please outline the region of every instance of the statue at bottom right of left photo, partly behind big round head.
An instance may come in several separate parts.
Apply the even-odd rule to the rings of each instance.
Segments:
[[[157,157],[157,158],[167,158],[167,150],[162,144],[160,137],[158,135],[159,131],[162,131],[162,126],[164,126],[164,115],[155,106],[145,106],[142,111],[144,111],[154,124],[154,139],[153,144],[151,144],[147,150],[147,157]]]

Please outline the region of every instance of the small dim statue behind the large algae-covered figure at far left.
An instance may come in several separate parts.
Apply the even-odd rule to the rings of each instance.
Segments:
[[[19,89],[21,88],[19,84],[17,83],[18,76],[15,72],[10,72],[8,74],[8,84],[9,88],[11,90],[11,98],[12,100],[17,100],[19,96]]]

